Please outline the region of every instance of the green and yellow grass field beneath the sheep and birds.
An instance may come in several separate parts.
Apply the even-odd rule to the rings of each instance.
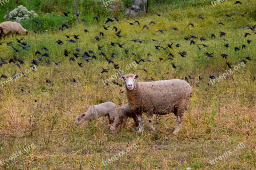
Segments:
[[[63,32],[53,29],[48,32],[40,30],[36,34],[31,28],[26,36],[14,35],[2,39],[0,42],[12,41],[20,53],[3,43],[0,57],[6,62],[11,58],[24,59],[24,64],[20,67],[13,66],[14,63],[3,64],[0,74],[5,74],[9,79],[16,73],[25,73],[33,65],[30,63],[32,60],[39,62],[39,65],[35,72],[26,72],[16,81],[0,86],[0,161],[19,153],[15,161],[5,161],[2,165],[0,162],[0,168],[255,169],[256,34],[244,26],[256,24],[256,2],[244,0],[242,5],[233,5],[234,2],[224,1],[213,7],[210,1],[198,1],[197,4],[188,1],[185,7],[182,3],[166,4],[159,11],[135,18],[120,14],[119,22],[106,24],[110,25],[109,31],[104,30],[102,25],[111,16],[102,17],[99,22],[93,21],[93,16],[87,16],[88,23],[73,24]],[[240,14],[246,11],[246,17],[241,17]],[[162,16],[158,17],[156,12]],[[224,14],[232,17],[228,18]],[[197,19],[199,16],[204,19]],[[134,20],[139,20],[140,25],[126,23]],[[156,22],[156,25],[149,25],[150,21]],[[219,22],[224,25],[217,25]],[[187,26],[189,23],[193,23],[194,27]],[[145,24],[149,30],[142,30]],[[122,31],[121,38],[111,30],[113,26]],[[179,30],[174,31],[173,27]],[[84,29],[89,32],[84,32]],[[159,29],[166,31],[156,32]],[[99,32],[104,32],[104,36],[100,36],[100,41],[97,41],[94,37],[99,36]],[[226,35],[220,38],[220,32]],[[245,32],[251,35],[244,37]],[[68,43],[65,35],[74,34],[79,35],[79,39],[75,39],[76,43]],[[215,39],[211,39],[212,34],[216,35]],[[191,35],[198,37],[193,39],[195,45],[190,45],[190,40],[184,39]],[[199,37],[206,40],[201,42]],[[27,51],[23,50],[16,38],[24,38],[23,42],[31,47]],[[223,38],[227,41],[221,40]],[[55,43],[59,39],[64,42],[63,45]],[[145,41],[132,42],[132,39]],[[247,40],[252,43],[248,44]],[[111,46],[111,42],[115,42],[116,46]],[[172,42],[172,49],[155,48],[166,47]],[[124,43],[124,48],[118,47],[117,43]],[[180,47],[176,47],[176,44],[180,44]],[[208,47],[199,50],[198,44]],[[225,47],[225,44],[229,47]],[[242,49],[243,44],[246,45],[245,49]],[[151,77],[154,81],[174,78],[185,80],[188,75],[192,77],[188,78],[193,88],[192,98],[184,114],[182,129],[177,135],[172,135],[175,125],[173,114],[153,117],[156,132],[151,131],[144,115],[145,129],[142,134],[132,129],[132,119],[128,119],[126,127],[116,134],[106,128],[106,117],[78,126],[75,124],[76,116],[84,113],[92,104],[111,101],[120,107],[127,103],[125,85],[119,78],[114,80],[122,87],[113,82],[108,82],[108,86],[102,83],[117,70],[99,55],[98,45],[103,46],[102,52],[108,59],[113,52],[116,53],[112,60],[119,64],[119,70],[125,70],[134,60],[151,60],[126,70],[125,74],[139,74],[139,81],[151,81]],[[42,46],[47,47],[48,51],[41,50]],[[235,46],[241,50],[235,51]],[[86,62],[83,57],[75,58],[72,54],[75,51],[71,51],[74,48],[82,49],[79,54],[92,50],[97,59]],[[129,50],[127,54],[126,49]],[[35,55],[37,50],[42,54],[49,53],[50,57],[42,57],[43,61],[38,61],[39,55]],[[65,50],[71,51],[69,57],[64,55]],[[185,57],[180,56],[182,51],[187,52]],[[206,52],[214,52],[213,57],[207,57]],[[148,53],[152,56],[147,56]],[[168,56],[169,53],[174,57]],[[228,54],[227,59],[221,57],[224,53]],[[70,57],[76,61],[69,61]],[[164,60],[159,60],[160,57]],[[235,70],[235,66],[243,59],[247,61],[245,67]],[[46,63],[48,60],[50,64]],[[219,77],[226,73],[230,69],[227,62],[231,63],[233,73],[212,84],[209,76]],[[78,63],[82,63],[83,67],[79,67]],[[179,67],[175,69],[172,64]],[[109,69],[108,73],[101,73],[103,68]],[[199,80],[199,76],[203,80]],[[6,80],[0,79],[2,82]],[[130,152],[121,154],[108,165],[102,163],[126,151],[128,147],[132,149]],[[27,152],[24,148],[27,148]],[[216,159],[218,162],[213,165],[209,162],[225,153],[225,159]]]

